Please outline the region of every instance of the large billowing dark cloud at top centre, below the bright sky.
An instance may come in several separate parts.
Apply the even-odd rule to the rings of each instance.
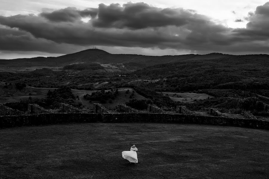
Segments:
[[[92,19],[95,27],[132,28],[163,27],[167,25],[182,26],[190,22],[207,20],[207,17],[182,8],[158,8],[146,3],[99,4],[98,18]]]

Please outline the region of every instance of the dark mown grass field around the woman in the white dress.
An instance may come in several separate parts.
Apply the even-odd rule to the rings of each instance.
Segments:
[[[175,124],[0,130],[0,178],[269,178],[269,131]],[[136,144],[138,163],[121,152]]]

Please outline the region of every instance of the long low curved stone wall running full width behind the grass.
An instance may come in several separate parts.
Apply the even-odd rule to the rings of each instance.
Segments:
[[[72,122],[158,122],[236,126],[269,130],[269,121],[169,113],[44,113],[0,116],[0,128]]]

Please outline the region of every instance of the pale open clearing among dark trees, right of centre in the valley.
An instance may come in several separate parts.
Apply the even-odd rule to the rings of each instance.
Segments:
[[[181,93],[181,92],[162,92],[163,95],[168,94],[168,96],[173,101],[188,102],[193,103],[194,100],[206,99],[206,98],[215,98],[214,96],[205,94],[205,93]]]

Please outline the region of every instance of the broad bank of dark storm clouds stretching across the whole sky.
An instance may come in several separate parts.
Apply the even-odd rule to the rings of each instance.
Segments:
[[[248,14],[247,28],[235,29],[216,24],[193,10],[162,9],[145,3],[127,3],[123,7],[100,4],[98,9],[86,10],[69,7],[38,16],[0,16],[0,24],[18,29],[12,35],[3,36],[11,39],[9,49],[13,44],[16,50],[36,48],[55,53],[63,50],[61,44],[74,44],[71,47],[102,45],[262,53],[268,51],[269,43],[268,5],[259,6],[255,13]],[[91,17],[88,23],[80,21],[85,16]],[[16,33],[26,34],[14,35]],[[43,47],[42,43],[46,45]],[[17,44],[29,44],[29,47]],[[1,45],[0,49],[3,48]]]

